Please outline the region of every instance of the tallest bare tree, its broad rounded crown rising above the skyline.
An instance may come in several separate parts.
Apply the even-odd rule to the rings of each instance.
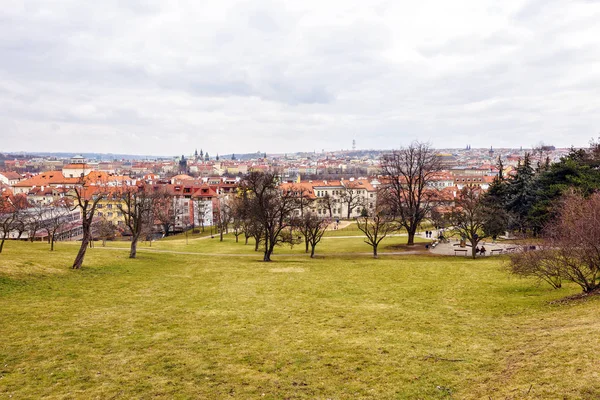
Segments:
[[[408,232],[408,245],[414,245],[421,221],[429,214],[435,190],[429,187],[441,169],[439,157],[429,144],[413,142],[407,148],[386,154],[381,160],[382,175],[390,196],[390,211]]]

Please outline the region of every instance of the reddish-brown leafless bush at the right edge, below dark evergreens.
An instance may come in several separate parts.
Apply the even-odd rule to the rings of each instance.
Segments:
[[[590,293],[600,288],[600,193],[589,198],[568,194],[557,219],[546,226],[536,255],[511,256],[509,268],[517,275],[534,276],[560,287],[561,280]],[[528,253],[528,252],[527,252]]]

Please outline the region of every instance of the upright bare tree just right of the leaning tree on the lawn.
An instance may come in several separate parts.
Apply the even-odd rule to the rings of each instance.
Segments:
[[[130,186],[121,190],[118,197],[120,202],[117,207],[123,213],[125,225],[131,233],[129,258],[135,258],[137,243],[144,231],[144,226],[150,224],[157,196],[146,190],[144,186]]]

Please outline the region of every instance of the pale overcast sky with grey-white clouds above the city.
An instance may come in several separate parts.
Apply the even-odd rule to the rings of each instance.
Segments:
[[[4,0],[0,151],[585,146],[599,21],[600,0]]]

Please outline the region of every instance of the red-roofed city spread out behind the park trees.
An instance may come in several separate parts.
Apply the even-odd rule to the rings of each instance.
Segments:
[[[78,187],[149,187],[170,197],[170,227],[153,228],[162,234],[182,232],[194,226],[213,226],[220,204],[236,193],[243,177],[251,172],[273,173],[282,190],[298,190],[314,200],[315,212],[325,218],[356,218],[371,212],[381,185],[381,157],[389,150],[349,150],[269,154],[210,154],[198,149],[175,157],[84,154],[0,154],[0,194],[11,204],[23,203],[30,213],[48,213],[63,198],[72,198]],[[452,201],[465,186],[487,190],[499,167],[509,176],[526,153],[536,164],[552,163],[570,149],[540,146],[534,149],[437,149],[442,170],[428,181],[440,199]],[[348,197],[353,193],[354,198]],[[94,191],[89,192],[90,198]],[[349,201],[348,199],[352,200]],[[318,200],[318,201],[317,201]],[[321,200],[327,200],[323,202]],[[122,200],[103,199],[95,221],[107,221],[127,235]],[[8,204],[8,203],[7,203]],[[38,210],[38,211],[35,211]],[[61,240],[76,240],[81,235],[80,216],[69,214],[71,225],[64,228]],[[13,230],[11,238],[27,238],[30,233]],[[33,239],[45,240],[46,231]]]

